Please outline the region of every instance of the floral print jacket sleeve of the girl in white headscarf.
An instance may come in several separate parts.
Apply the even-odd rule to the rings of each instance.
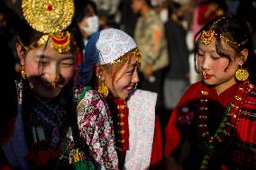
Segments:
[[[105,98],[87,90],[78,102],[78,129],[82,142],[101,169],[118,169],[114,125]]]

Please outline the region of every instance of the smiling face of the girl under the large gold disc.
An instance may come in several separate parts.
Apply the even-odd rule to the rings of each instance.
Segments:
[[[29,50],[21,62],[32,89],[44,98],[56,97],[75,73],[74,56],[51,49],[50,41],[46,47]]]

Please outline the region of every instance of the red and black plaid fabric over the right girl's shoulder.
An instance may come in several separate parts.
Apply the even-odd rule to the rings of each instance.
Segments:
[[[256,87],[251,85],[236,127],[232,169],[256,169]]]

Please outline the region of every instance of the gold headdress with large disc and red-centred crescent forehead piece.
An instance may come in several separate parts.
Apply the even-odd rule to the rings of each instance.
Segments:
[[[36,31],[44,35],[25,49],[34,49],[51,38],[50,47],[59,53],[69,51],[70,34],[65,30],[72,21],[73,0],[23,0],[23,16]]]

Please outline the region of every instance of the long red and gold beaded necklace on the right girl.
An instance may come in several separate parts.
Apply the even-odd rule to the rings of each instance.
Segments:
[[[232,137],[233,130],[239,119],[240,107],[242,105],[242,98],[244,94],[248,93],[248,87],[250,83],[248,81],[243,82],[239,85],[236,94],[233,97],[233,103],[231,103],[224,115],[222,116],[221,122],[218,129],[215,131],[214,135],[208,131],[207,120],[208,120],[208,107],[207,107],[207,95],[209,94],[206,86],[204,86],[200,93],[202,98],[199,101],[198,109],[198,134],[199,137],[203,139],[203,145],[206,149],[206,155],[203,158],[201,169],[206,169],[209,163],[210,156],[215,153],[216,147],[224,143],[227,139]]]

